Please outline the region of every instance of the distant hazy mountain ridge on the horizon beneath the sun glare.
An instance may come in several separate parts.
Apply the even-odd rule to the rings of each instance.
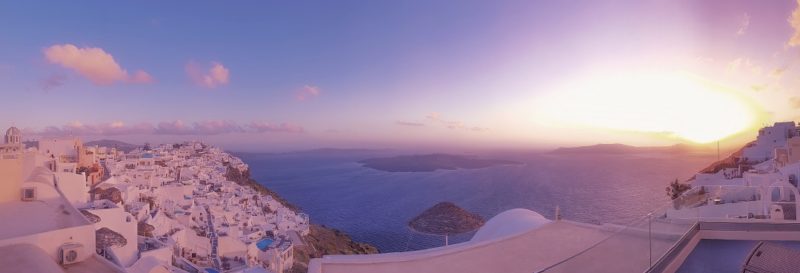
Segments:
[[[561,147],[550,151],[551,154],[640,154],[640,153],[701,153],[712,152],[707,147],[692,146],[688,144],[675,144],[670,146],[632,146],[620,143],[596,144],[591,146]]]

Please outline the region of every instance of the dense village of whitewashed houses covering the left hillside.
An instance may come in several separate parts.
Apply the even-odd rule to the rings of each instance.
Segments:
[[[229,180],[247,164],[201,142],[21,140],[12,127],[0,145],[0,254],[34,249],[52,272],[286,272],[309,233],[307,215]]]

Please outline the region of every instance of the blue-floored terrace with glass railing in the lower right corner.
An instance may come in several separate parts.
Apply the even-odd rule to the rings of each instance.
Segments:
[[[796,193],[783,185],[696,188],[536,272],[741,272],[759,241],[800,249]]]

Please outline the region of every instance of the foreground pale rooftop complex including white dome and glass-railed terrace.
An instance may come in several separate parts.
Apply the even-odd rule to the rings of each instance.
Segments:
[[[744,255],[759,241],[800,248],[800,223],[792,214],[774,211],[797,206],[796,189],[788,189],[697,188],[626,225],[568,220],[530,224],[526,218],[537,218],[529,215],[536,213],[510,210],[489,220],[465,243],[411,252],[329,255],[312,260],[309,272],[704,272],[702,266],[709,268],[705,272],[738,271]],[[517,228],[478,236],[496,233],[489,227],[492,222],[501,222],[503,229]]]

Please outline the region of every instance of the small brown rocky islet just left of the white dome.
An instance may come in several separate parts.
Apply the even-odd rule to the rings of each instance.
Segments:
[[[480,215],[462,209],[451,202],[441,202],[425,210],[408,222],[417,232],[444,235],[445,245],[450,234],[470,232],[481,227],[485,221]]]

